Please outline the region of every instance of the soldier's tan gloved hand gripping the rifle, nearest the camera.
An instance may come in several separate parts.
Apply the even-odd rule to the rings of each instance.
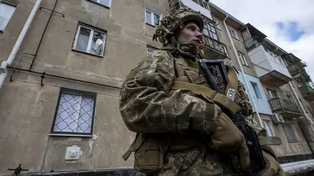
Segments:
[[[215,105],[216,106],[216,105]],[[242,169],[250,167],[250,154],[243,133],[232,120],[218,108],[216,131],[210,135],[209,146],[225,153],[239,154]]]

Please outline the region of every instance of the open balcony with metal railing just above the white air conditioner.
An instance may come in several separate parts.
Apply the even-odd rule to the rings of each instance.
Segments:
[[[281,114],[284,118],[292,119],[301,116],[298,105],[290,100],[279,97],[268,100],[271,110]]]

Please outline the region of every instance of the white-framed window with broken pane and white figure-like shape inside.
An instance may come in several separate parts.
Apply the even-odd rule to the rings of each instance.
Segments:
[[[73,49],[104,56],[106,33],[98,29],[78,25]]]

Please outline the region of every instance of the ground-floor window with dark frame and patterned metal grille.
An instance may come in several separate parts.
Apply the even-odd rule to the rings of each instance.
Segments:
[[[68,127],[69,127],[70,124],[74,123],[73,129],[70,128],[70,127],[69,127],[70,129],[66,129],[66,128],[65,129],[59,129],[59,127],[57,127],[57,124],[59,123],[59,122],[56,123],[56,121],[58,119],[57,116],[60,116],[62,114],[62,112],[65,111],[65,110],[59,111],[59,108],[62,108],[62,104],[65,103],[65,102],[61,102],[62,94],[72,95],[72,96],[76,96],[78,98],[78,101],[75,102],[75,105],[71,107],[71,108],[75,109],[75,110],[73,110],[73,114],[71,114],[71,115],[69,114],[69,112],[71,112],[71,110],[69,110],[69,112],[66,111],[64,113],[64,114],[68,114],[69,116],[71,116],[70,118],[72,119],[72,122],[70,122],[69,124],[65,122],[66,119],[68,119],[69,117],[66,117],[66,118],[61,118],[60,117],[61,121],[59,121],[59,122],[62,122],[62,121],[65,122],[65,124]],[[84,110],[83,107],[81,107],[82,97],[83,96],[86,96],[85,100],[84,100],[85,102],[86,102],[87,98],[90,99],[90,100],[93,100],[92,104],[88,104],[89,106],[92,106],[92,109],[86,111],[86,110]],[[88,135],[88,136],[91,136],[92,133],[93,133],[94,120],[95,120],[96,96],[97,96],[96,93],[90,93],[90,92],[79,91],[79,90],[68,89],[68,88],[61,88],[60,92],[59,92],[59,98],[58,98],[58,102],[57,102],[57,105],[56,105],[56,110],[55,110],[54,119],[53,119],[53,122],[52,122],[52,129],[51,129],[50,135]],[[71,99],[72,98],[70,98],[70,100]],[[65,101],[68,102],[69,100],[65,100]],[[79,115],[81,108],[83,108],[83,110],[85,111],[85,114],[86,113],[91,113],[91,114],[89,114],[89,115],[91,115],[91,117],[90,117],[90,124],[86,123],[86,121],[85,121],[86,119],[84,120],[83,116]],[[59,112],[60,112],[60,114],[58,114]],[[81,118],[84,121],[84,123],[89,125],[90,129],[87,128],[87,130],[89,129],[87,132],[78,132],[79,118]],[[81,129],[81,128],[79,128],[79,129]],[[69,130],[71,130],[72,132],[69,132]],[[76,130],[76,132],[73,132],[74,130]]]

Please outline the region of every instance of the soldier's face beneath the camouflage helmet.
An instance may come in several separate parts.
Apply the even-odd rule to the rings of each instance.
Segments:
[[[201,44],[203,41],[203,34],[194,22],[189,22],[181,31],[177,41],[179,44]]]

